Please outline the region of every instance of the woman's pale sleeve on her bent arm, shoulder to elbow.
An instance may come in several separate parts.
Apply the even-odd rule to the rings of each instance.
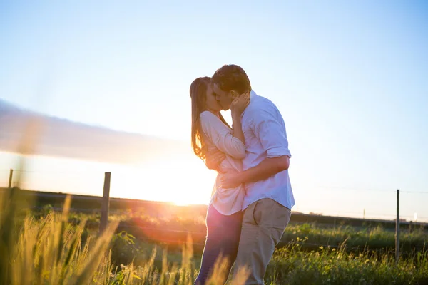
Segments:
[[[232,130],[213,113],[200,114],[200,125],[203,133],[213,142],[215,147],[226,155],[236,159],[245,157],[245,145],[232,135]]]

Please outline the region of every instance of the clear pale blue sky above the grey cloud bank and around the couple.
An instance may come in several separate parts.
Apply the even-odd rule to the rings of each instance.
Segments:
[[[236,63],[285,118],[298,204],[428,192],[428,1],[87,2],[0,1],[0,98],[188,140],[191,81]]]

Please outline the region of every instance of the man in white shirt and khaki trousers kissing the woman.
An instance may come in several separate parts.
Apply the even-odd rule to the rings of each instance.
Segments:
[[[215,71],[213,90],[224,110],[236,96],[250,92],[250,104],[241,115],[246,146],[243,172],[225,173],[222,185],[232,188],[245,183],[245,212],[235,268],[248,266],[251,273],[246,284],[264,284],[267,264],[295,205],[288,176],[291,154],[285,123],[270,100],[251,90],[240,66],[226,65]],[[205,163],[215,170],[223,159],[224,154],[217,152]]]

